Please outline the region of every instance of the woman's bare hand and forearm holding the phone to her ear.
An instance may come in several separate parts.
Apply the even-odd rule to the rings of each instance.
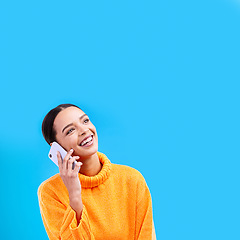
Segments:
[[[70,206],[76,212],[77,220],[79,222],[83,210],[83,203],[81,197],[81,183],[78,177],[78,172],[82,166],[82,163],[76,161],[79,159],[79,156],[71,156],[73,151],[74,150],[71,149],[63,160],[58,152],[57,158],[60,177],[68,190]],[[76,161],[76,164],[73,169],[72,166],[74,161]]]

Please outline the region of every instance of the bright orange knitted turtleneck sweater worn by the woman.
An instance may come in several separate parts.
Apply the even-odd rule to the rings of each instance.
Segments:
[[[79,225],[60,175],[38,189],[42,220],[50,240],[150,240],[152,202],[143,176],[112,164],[98,152],[102,170],[93,177],[79,173],[83,213]]]

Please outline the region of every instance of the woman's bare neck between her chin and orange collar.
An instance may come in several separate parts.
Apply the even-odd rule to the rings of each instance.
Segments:
[[[89,177],[97,175],[102,169],[102,164],[97,153],[93,154],[89,158],[82,159],[82,163],[83,165],[81,166],[80,173]]]

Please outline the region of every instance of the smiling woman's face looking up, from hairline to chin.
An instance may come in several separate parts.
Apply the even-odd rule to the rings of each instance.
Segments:
[[[55,118],[53,128],[56,131],[57,142],[73,155],[86,159],[98,150],[96,128],[88,116],[79,108],[68,107]]]

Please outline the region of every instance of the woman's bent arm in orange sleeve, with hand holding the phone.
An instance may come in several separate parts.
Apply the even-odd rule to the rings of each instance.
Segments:
[[[44,226],[50,240],[94,240],[88,213],[82,204],[81,185],[78,178],[80,163],[72,170],[69,152],[63,162],[59,158],[60,176],[69,194],[69,202],[62,202],[54,186],[42,184],[38,190],[39,205]],[[68,160],[69,159],[69,160]]]

